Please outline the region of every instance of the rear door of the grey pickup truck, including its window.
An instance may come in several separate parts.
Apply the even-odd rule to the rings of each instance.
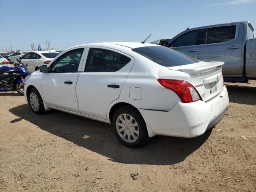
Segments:
[[[242,33],[242,24],[208,28],[206,44],[199,46],[199,60],[223,61],[223,75],[242,75]]]

